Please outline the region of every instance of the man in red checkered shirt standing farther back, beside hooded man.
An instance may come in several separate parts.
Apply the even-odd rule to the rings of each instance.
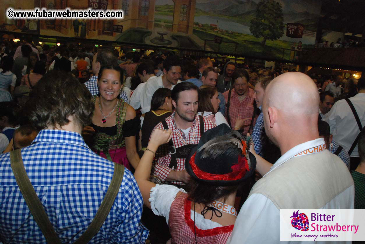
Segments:
[[[246,135],[254,111],[254,91],[249,88],[250,78],[246,70],[236,70],[232,75],[232,79],[233,89],[223,93],[223,97],[227,102],[226,119],[233,130],[242,129],[243,135]]]

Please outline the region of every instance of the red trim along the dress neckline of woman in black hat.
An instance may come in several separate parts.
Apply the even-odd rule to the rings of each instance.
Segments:
[[[185,222],[190,227],[191,231],[194,233],[194,221],[190,217],[191,210],[191,201],[188,198],[185,199],[184,204],[185,210]],[[227,232],[232,232],[234,225],[227,225],[222,227],[216,227],[213,229],[199,229],[195,226],[196,236],[204,237],[204,236],[215,236]]]

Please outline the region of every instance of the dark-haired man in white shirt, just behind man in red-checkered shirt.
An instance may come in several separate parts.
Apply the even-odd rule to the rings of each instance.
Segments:
[[[141,93],[141,112],[147,113],[151,109],[151,99],[158,88],[172,90],[177,83],[180,83],[181,64],[177,56],[170,55],[164,60],[164,74],[146,82]]]

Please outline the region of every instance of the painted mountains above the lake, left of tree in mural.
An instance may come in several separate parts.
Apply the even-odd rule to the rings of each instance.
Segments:
[[[227,16],[237,16],[247,11],[255,10],[257,3],[251,0],[211,0],[205,1],[205,3],[199,3],[199,1],[196,1],[195,7],[206,12],[214,12]]]

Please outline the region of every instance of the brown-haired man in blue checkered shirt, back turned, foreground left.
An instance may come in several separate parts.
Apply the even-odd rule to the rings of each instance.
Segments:
[[[28,103],[31,123],[42,130],[21,151],[24,167],[61,242],[74,243],[103,201],[114,164],[93,153],[81,137],[94,105],[73,76],[50,71]],[[0,242],[46,243],[19,190],[9,153],[0,156],[0,177]],[[89,243],[145,243],[149,231],[140,223],[142,206],[134,176],[125,169],[111,210]]]

